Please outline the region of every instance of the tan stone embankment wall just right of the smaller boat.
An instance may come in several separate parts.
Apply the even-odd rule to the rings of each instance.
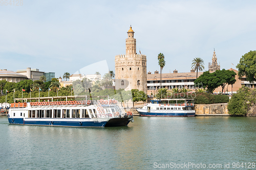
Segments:
[[[195,105],[196,116],[229,116],[227,103]]]

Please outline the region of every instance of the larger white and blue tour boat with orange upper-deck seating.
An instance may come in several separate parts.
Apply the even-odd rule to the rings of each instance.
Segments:
[[[68,101],[85,98],[86,100]],[[22,100],[64,100],[54,102],[13,103],[9,109],[10,124],[67,126],[67,127],[112,127],[126,126],[133,122],[133,113],[125,113],[117,100],[87,100],[86,95],[29,98]],[[20,100],[20,99],[15,99]]]

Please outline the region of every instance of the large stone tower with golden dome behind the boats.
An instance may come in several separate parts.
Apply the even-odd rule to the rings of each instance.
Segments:
[[[116,89],[138,89],[147,93],[146,55],[136,53],[136,39],[132,27],[127,34],[125,55],[115,56]]]

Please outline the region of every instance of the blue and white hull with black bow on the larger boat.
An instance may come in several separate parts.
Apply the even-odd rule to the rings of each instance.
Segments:
[[[8,118],[10,124],[14,125],[38,125],[38,126],[62,126],[62,127],[114,127],[127,126],[131,117],[106,118],[104,120],[84,119],[57,119],[57,118]],[[108,124],[107,124],[108,123]],[[107,124],[107,125],[106,125]]]

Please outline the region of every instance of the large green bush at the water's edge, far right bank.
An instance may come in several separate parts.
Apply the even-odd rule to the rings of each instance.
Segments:
[[[231,96],[228,102],[228,113],[234,116],[247,115],[248,109],[256,103],[256,90],[242,86]]]

